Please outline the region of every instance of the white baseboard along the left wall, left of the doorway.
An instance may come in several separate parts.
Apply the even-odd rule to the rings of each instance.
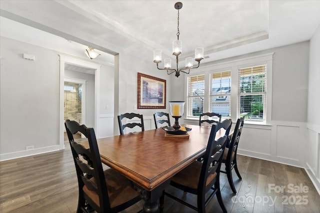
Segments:
[[[22,157],[31,156],[31,155],[38,155],[38,154],[53,152],[58,150],[60,150],[59,145],[56,145],[56,146],[43,147],[43,148],[32,149],[32,150],[5,153],[0,155],[0,161],[7,161],[11,159],[22,158]]]

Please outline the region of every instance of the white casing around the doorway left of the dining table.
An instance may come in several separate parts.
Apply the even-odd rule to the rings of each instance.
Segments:
[[[84,59],[74,58],[67,55],[59,54],[60,61],[60,80],[59,80],[59,149],[64,149],[63,128],[64,128],[64,64],[73,64],[76,66],[94,69],[94,131],[99,138],[99,122],[98,113],[100,106],[100,67],[101,65],[88,62]]]

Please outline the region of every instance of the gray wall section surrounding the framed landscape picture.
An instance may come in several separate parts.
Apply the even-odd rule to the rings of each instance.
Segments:
[[[142,49],[141,51],[149,51],[150,55],[153,55],[153,50]],[[171,84],[170,81],[174,77],[167,75],[165,70],[158,70],[155,63],[152,62],[152,57],[138,58],[136,56],[128,54],[127,51],[119,51],[118,58],[118,73],[116,73],[115,94],[114,97],[115,106],[114,110],[114,134],[118,135],[116,116],[126,113],[134,112],[143,115],[145,130],[154,129],[153,113],[155,112],[169,112],[168,101],[171,100]],[[116,60],[115,60],[116,61]],[[116,62],[115,62],[116,64]],[[116,67],[116,65],[115,65]],[[115,71],[117,72],[117,71]],[[137,109],[137,73],[144,73],[157,78],[166,80],[166,109]],[[181,77],[182,78],[182,77]],[[183,98],[183,95],[181,96]]]

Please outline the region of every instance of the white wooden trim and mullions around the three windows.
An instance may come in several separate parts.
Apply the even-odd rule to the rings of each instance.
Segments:
[[[191,74],[185,75],[184,77],[184,96],[187,99],[187,78],[191,76],[204,74],[204,105],[203,111],[209,112],[209,98],[211,88],[211,73],[222,72],[231,70],[231,95],[230,95],[230,118],[233,122],[240,117],[238,110],[238,81],[239,81],[239,69],[251,66],[266,65],[266,104],[265,104],[265,121],[246,121],[246,124],[256,125],[271,125],[271,106],[272,106],[272,61],[274,52],[260,54],[256,56],[225,61],[216,63],[216,61],[207,62],[201,64],[201,66],[194,70]],[[186,105],[188,107],[188,105]],[[188,112],[188,108],[185,109]],[[183,118],[187,120],[198,120],[196,116],[189,116],[187,113],[183,115]],[[223,120],[223,117],[222,117]],[[192,122],[192,121],[191,121]],[[194,121],[193,121],[194,122]]]

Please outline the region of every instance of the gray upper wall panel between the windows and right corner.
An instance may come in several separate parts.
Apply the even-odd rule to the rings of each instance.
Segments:
[[[271,49],[272,120],[306,122],[309,42]]]

